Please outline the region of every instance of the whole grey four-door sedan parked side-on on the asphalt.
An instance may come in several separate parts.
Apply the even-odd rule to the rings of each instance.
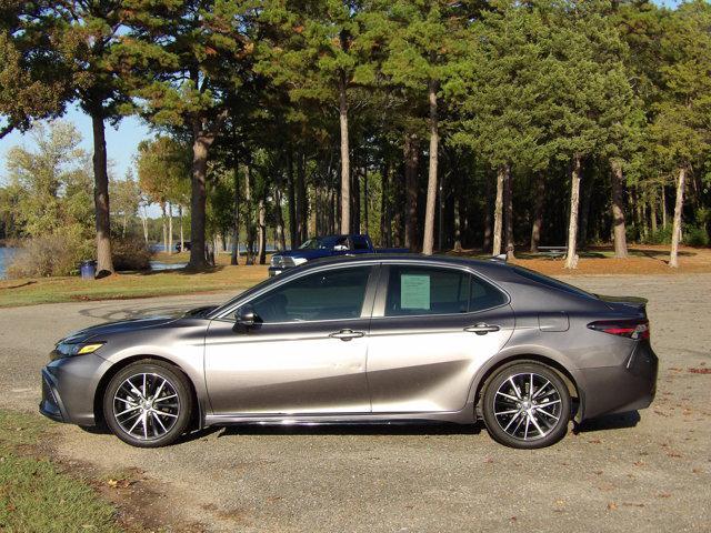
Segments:
[[[108,323],[57,343],[40,411],[161,446],[243,423],[482,419],[513,447],[571,418],[654,398],[645,301],[590,294],[501,261],[310,261],[220,306]]]

